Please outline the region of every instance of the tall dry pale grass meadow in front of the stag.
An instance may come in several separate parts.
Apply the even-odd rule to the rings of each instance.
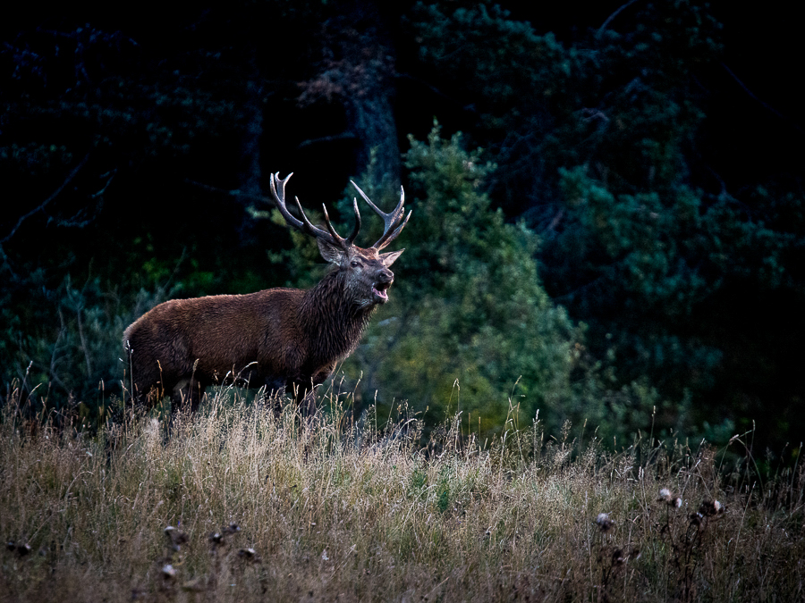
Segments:
[[[7,406],[0,599],[805,596],[801,465],[761,483],[706,447],[538,430],[480,449],[455,423],[420,448],[414,421],[378,430],[335,402],[300,428],[224,392],[168,439],[147,416],[31,430]]]

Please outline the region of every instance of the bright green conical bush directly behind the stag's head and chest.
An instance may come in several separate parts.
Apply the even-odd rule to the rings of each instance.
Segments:
[[[535,236],[491,208],[482,183],[494,166],[479,156],[437,126],[425,142],[411,138],[413,216],[398,240],[412,243],[394,265],[390,307],[345,370],[363,373],[365,398],[407,399],[428,423],[458,410],[482,433],[538,412],[556,430],[588,417],[621,437],[647,428],[656,392],[607,389],[583,329],[539,284]]]

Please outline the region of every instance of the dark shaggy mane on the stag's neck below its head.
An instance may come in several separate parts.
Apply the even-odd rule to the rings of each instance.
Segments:
[[[331,362],[358,346],[375,306],[360,306],[345,289],[343,272],[330,272],[305,292],[300,322],[317,361]]]

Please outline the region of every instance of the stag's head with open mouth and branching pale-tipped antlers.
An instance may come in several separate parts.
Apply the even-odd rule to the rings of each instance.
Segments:
[[[387,253],[380,253],[380,250],[397,238],[402,228],[411,218],[411,212],[406,216],[403,208],[405,191],[402,190],[402,187],[400,188],[400,202],[394,207],[394,210],[386,214],[372,203],[371,199],[357,184],[352,182],[352,186],[358,190],[360,197],[363,197],[363,200],[383,218],[384,222],[383,235],[380,239],[377,239],[377,242],[372,247],[364,248],[354,244],[354,240],[360,232],[358,199],[352,199],[355,227],[352,229],[352,234],[343,239],[330,222],[330,217],[324,204],[322,204],[322,208],[324,209],[326,230],[314,226],[309,221],[308,216],[302,210],[298,197],[294,197],[294,200],[301,215],[301,220],[288,211],[285,205],[285,184],[291,179],[292,175],[292,173],[288,174],[284,180],[280,180],[279,172],[271,175],[271,193],[274,196],[277,209],[279,209],[280,214],[283,214],[285,222],[293,229],[317,239],[321,256],[335,266],[339,275],[343,278],[344,289],[352,297],[352,302],[355,305],[366,307],[385,304],[388,301],[388,288],[394,282],[394,272],[389,270],[389,266],[394,264],[394,260],[402,254],[404,249]]]

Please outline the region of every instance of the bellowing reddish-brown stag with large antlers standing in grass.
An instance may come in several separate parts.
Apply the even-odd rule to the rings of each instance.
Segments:
[[[389,266],[404,250],[380,250],[400,234],[411,212],[404,216],[404,191],[386,214],[352,182],[385,222],[377,243],[358,247],[353,244],[360,230],[357,199],[352,203],[355,228],[343,239],[326,207],[326,230],[310,223],[299,198],[301,220],[288,211],[285,184],[291,176],[279,180],[279,173],[271,175],[275,205],[289,226],[317,239],[322,257],[334,269],[312,289],[173,299],[143,314],[123,333],[135,399],[154,403],[167,394],[174,409],[189,400],[195,411],[209,385],[237,381],[265,387],[267,393],[284,389],[300,403],[307,399],[312,411],[309,392],[352,353],[377,305],[388,301],[394,281]]]

